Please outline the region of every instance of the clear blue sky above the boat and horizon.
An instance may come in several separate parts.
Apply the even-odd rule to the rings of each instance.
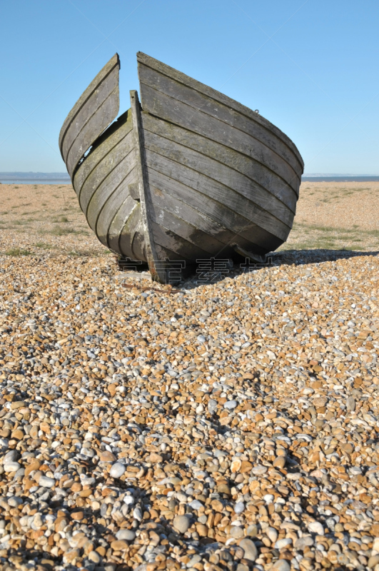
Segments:
[[[293,139],[305,173],[379,174],[377,0],[0,0],[0,171],[63,172],[58,136],[106,61],[143,51]]]

